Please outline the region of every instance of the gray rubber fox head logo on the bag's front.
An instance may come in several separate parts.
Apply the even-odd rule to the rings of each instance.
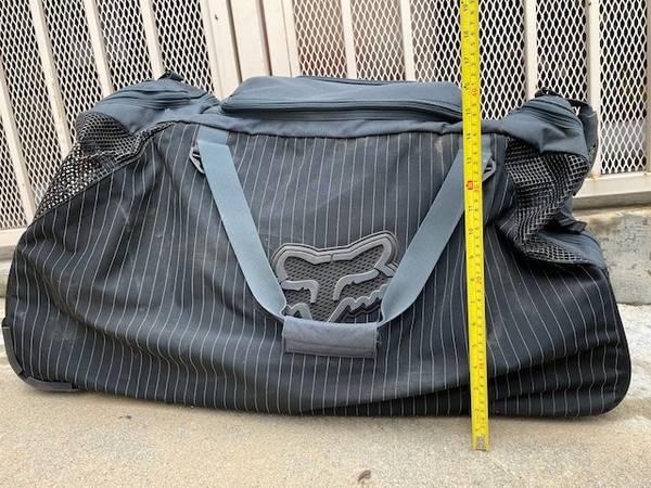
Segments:
[[[328,322],[375,310],[397,269],[397,242],[380,232],[341,247],[284,244],[271,261],[286,313]]]

